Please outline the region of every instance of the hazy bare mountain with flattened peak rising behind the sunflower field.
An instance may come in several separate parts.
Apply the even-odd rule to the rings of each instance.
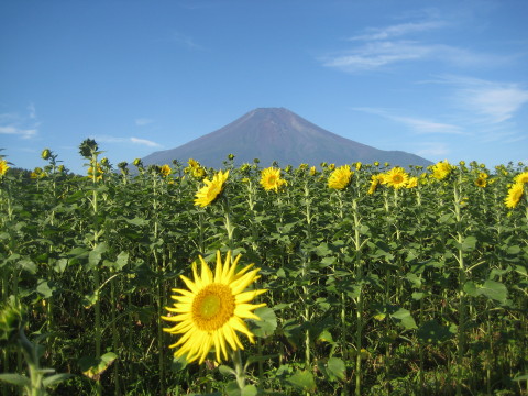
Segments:
[[[215,132],[176,148],[154,152],[142,161],[145,165],[163,165],[173,160],[185,164],[194,158],[204,166],[220,168],[228,154],[234,154],[235,165],[258,158],[264,167],[274,161],[282,167],[321,162],[343,165],[358,161],[388,162],[393,166],[432,164],[415,154],[378,150],[342,138],[284,108],[252,110]]]

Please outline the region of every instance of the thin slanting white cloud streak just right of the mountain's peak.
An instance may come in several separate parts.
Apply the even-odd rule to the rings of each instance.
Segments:
[[[353,108],[353,110],[376,114],[385,119],[403,123],[409,127],[414,132],[420,134],[465,134],[463,129],[459,125],[427,120],[424,118],[399,116],[385,109],[359,107]]]

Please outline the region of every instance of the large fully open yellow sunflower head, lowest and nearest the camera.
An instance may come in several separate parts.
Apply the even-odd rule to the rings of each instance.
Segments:
[[[244,349],[237,331],[245,334],[254,342],[253,333],[242,319],[260,320],[253,310],[265,304],[250,304],[253,298],[266,292],[253,289],[244,292],[260,276],[258,268],[249,271],[253,264],[237,272],[240,254],[231,263],[231,251],[222,264],[220,251],[217,251],[217,267],[215,274],[200,256],[201,274],[198,275],[197,263],[193,263],[195,279],[180,276],[187,289],[173,289],[176,302],[166,307],[174,316],[162,316],[162,319],[176,322],[172,328],[164,329],[172,334],[182,334],[180,339],[169,348],[178,348],[174,355],[187,355],[187,362],[199,359],[201,364],[209,351],[215,348],[217,362],[228,359],[230,350]]]

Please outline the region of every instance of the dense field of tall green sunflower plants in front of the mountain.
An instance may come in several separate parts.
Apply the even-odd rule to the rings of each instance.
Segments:
[[[50,150],[33,172],[0,158],[0,395],[528,395],[526,165],[79,148],[84,176]],[[200,256],[256,290],[229,302],[245,330],[193,333],[227,309],[195,290],[213,283]],[[170,348],[187,334],[190,362]]]

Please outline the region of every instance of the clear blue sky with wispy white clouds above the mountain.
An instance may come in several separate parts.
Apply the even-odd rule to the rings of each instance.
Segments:
[[[528,163],[526,0],[2,0],[0,147],[84,173],[258,107],[430,161]],[[235,153],[234,153],[235,154]]]

